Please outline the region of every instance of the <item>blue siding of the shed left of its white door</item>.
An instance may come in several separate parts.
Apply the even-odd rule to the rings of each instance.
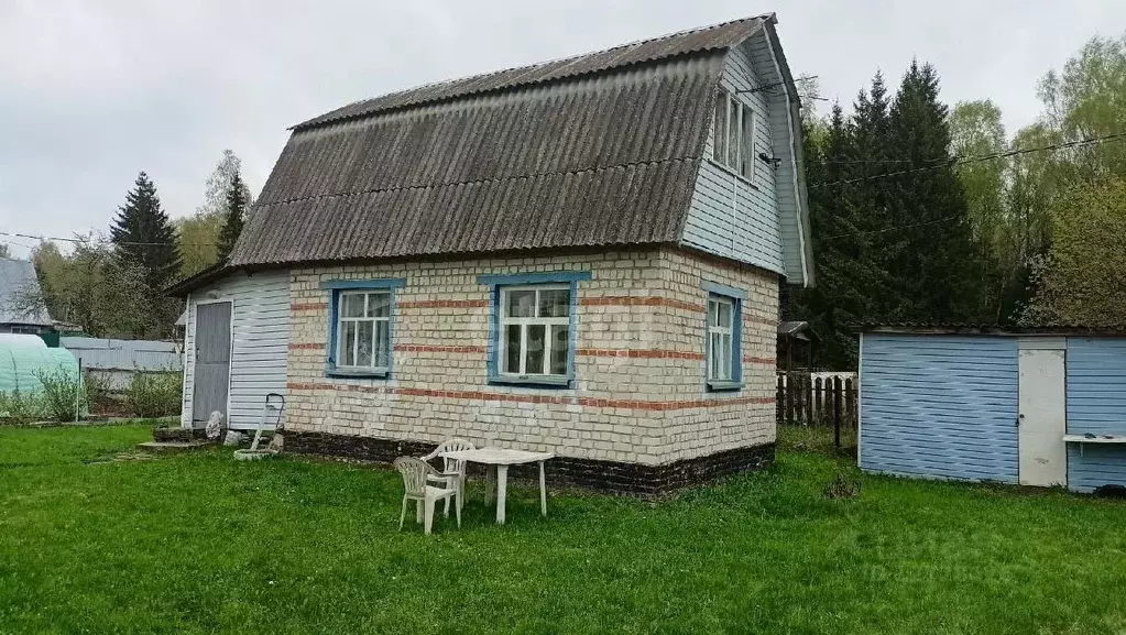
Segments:
[[[860,467],[1018,482],[1017,340],[866,333]]]

